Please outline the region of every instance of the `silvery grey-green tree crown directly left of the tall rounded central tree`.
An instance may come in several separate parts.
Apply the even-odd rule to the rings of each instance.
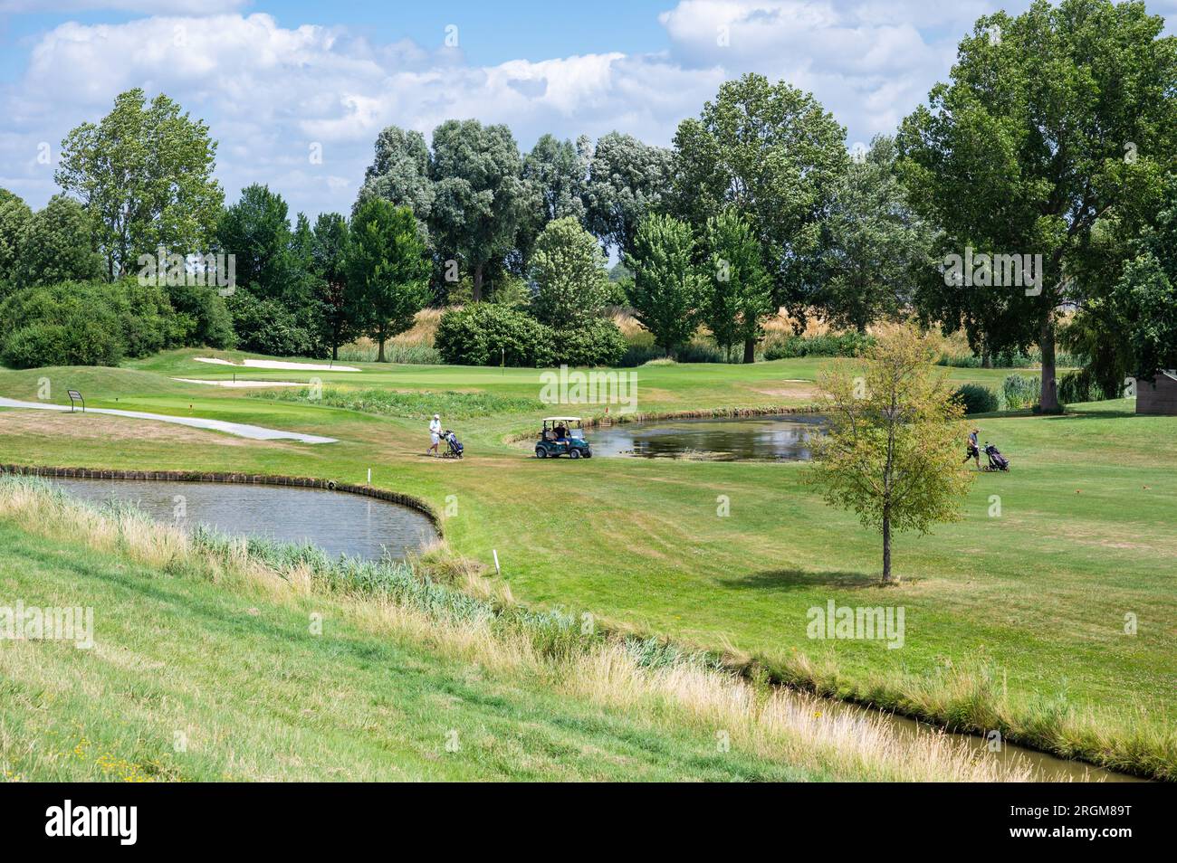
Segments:
[[[581,148],[587,155],[587,142]],[[669,149],[620,132],[603,135],[588,159],[584,189],[588,229],[606,248],[632,252],[638,225],[661,206],[670,176]]]

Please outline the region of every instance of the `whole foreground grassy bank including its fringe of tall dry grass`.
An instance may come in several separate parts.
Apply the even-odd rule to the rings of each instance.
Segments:
[[[0,573],[0,604],[94,613],[89,650],[0,642],[6,780],[1030,775],[399,564],[195,540],[20,479]]]

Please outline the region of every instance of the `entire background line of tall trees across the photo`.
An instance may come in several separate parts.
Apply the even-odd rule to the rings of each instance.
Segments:
[[[264,186],[225,207],[207,127],[131,91],[62,142],[64,196],[34,214],[0,195],[0,290],[117,281],[159,247],[222,250],[239,343],[324,354],[360,334],[383,344],[427,303],[498,300],[544,322],[560,261],[583,265],[590,236],[626,277],[586,265],[592,277],[572,279],[590,286],[585,314],[565,329],[624,303],[666,353],[701,325],[752,361],[780,308],[859,333],[916,316],[963,330],[986,362],[1037,346],[1052,410],[1058,343],[1110,389],[1177,364],[1177,48],[1163,27],[1110,0],[982,16],[927,103],[853,153],[811,94],[754,74],[669,148],[613,132],[524,153],[503,125],[448,120],[428,140],[391,126],[352,212],[313,226]],[[965,281],[953,256],[975,263]],[[1029,288],[995,266],[1024,257],[1040,260]]]

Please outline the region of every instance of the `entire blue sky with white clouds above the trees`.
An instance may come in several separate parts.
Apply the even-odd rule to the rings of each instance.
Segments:
[[[1177,0],[1148,5],[1177,19]],[[0,0],[0,186],[42,206],[61,138],[131,87],[208,122],[230,200],[265,182],[312,216],[347,212],[390,123],[505,122],[524,149],[545,132],[613,129],[665,146],[745,72],[812,92],[852,146],[926,98],[977,16],[1025,6]]]

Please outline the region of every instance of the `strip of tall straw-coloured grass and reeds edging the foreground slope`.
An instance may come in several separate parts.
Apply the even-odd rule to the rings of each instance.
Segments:
[[[158,524],[127,507],[99,509],[44,480],[0,477],[0,519],[45,536],[125,555],[178,576],[273,602],[331,596],[374,634],[412,638],[447,657],[641,718],[691,730],[833,778],[1024,781],[1023,763],[972,751],[939,732],[911,737],[882,718],[831,715],[822,702],[749,681],[703,653],[586,630],[567,610],[533,611],[454,562],[444,548],[413,563],[332,560],[315,548],[228,538]],[[439,577],[431,577],[427,568]]]

